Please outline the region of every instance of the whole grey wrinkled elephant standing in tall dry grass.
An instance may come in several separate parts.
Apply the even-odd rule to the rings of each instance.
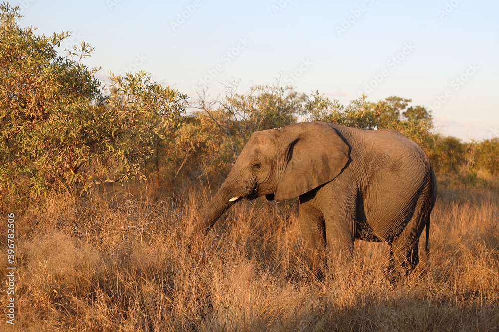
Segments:
[[[425,225],[428,250],[436,194],[428,157],[399,132],[298,123],[251,135],[196,227],[209,231],[242,198],[299,197],[313,272],[320,272],[326,244],[352,252],[355,239],[388,242],[391,265],[413,269]]]

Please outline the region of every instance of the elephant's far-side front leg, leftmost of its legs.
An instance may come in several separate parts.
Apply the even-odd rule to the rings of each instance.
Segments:
[[[305,240],[310,271],[317,278],[322,278],[322,266],[325,262],[326,237],[324,219],[320,211],[300,205],[300,227]]]

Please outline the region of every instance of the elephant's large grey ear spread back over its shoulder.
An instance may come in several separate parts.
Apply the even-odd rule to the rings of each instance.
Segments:
[[[293,141],[275,188],[276,200],[297,197],[333,180],[349,160],[348,145],[326,123],[301,123],[289,130]]]

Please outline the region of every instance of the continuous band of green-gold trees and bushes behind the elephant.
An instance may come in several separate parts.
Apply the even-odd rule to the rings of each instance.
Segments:
[[[60,55],[70,32],[46,37],[20,28],[18,7],[1,5],[0,194],[35,197],[58,183],[87,188],[103,181],[145,179],[151,171],[172,184],[182,177],[223,178],[251,134],[297,121],[325,121],[405,134],[426,151],[435,171],[460,179],[499,177],[499,140],[462,143],[432,133],[431,112],[411,99],[367,96],[348,105],[319,91],[255,85],[222,96],[187,96],[145,72],[114,75],[103,85],[84,65],[82,42]],[[186,116],[186,110],[192,112]]]

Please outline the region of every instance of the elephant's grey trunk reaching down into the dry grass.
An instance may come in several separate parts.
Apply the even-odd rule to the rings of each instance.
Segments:
[[[213,199],[201,212],[200,218],[195,226],[196,231],[201,231],[204,234],[208,233],[219,217],[222,216],[231,205],[236,203],[237,200],[230,201],[230,199],[233,198],[232,190],[230,190],[230,188],[231,186],[227,184],[227,181],[222,184]]]

